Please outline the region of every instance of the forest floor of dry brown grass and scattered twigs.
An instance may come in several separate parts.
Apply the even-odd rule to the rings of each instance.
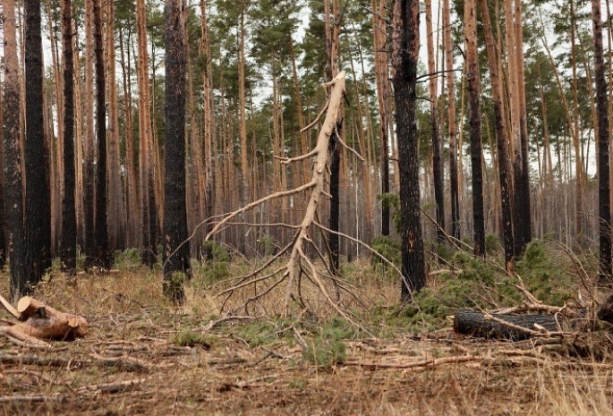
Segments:
[[[449,319],[430,330],[386,321],[392,279],[366,285],[378,306],[356,330],[333,311],[220,319],[207,285],[193,281],[173,308],[159,272],[142,267],[52,276],[34,297],[82,314],[89,333],[49,351],[0,339],[0,414],[613,414],[608,355],[454,337]]]

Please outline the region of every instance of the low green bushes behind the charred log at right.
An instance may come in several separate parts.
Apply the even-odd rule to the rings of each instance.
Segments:
[[[577,282],[553,244],[533,240],[523,258],[517,261],[516,272],[537,299],[547,305],[561,306],[576,292],[573,286]],[[494,241],[490,241],[490,249],[495,250]],[[437,251],[445,251],[440,254],[441,258],[449,255],[446,248],[439,247]],[[501,256],[484,260],[466,251],[455,251],[445,261],[435,266],[445,271],[433,276],[427,288],[414,294],[414,302],[375,306],[373,323],[428,332],[448,327],[451,322],[447,317],[457,309],[492,310],[524,303],[516,287],[520,281],[504,273]]]

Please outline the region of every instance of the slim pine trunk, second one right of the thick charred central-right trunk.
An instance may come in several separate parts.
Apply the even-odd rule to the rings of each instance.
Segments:
[[[449,185],[451,187],[451,234],[460,238],[460,195],[458,182],[457,144],[455,142],[455,76],[451,43],[451,9],[449,0],[443,1],[444,46],[447,70],[447,101],[449,104]]]

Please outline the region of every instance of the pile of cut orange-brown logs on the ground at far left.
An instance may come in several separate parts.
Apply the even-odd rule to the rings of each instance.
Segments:
[[[17,309],[2,296],[0,303],[17,319],[4,321],[0,333],[19,346],[49,348],[48,340],[72,341],[87,332],[88,324],[82,316],[60,312],[29,296],[17,302]]]

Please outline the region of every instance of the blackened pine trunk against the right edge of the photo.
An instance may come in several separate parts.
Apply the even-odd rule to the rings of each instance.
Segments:
[[[592,0],[594,32],[594,72],[598,108],[598,217],[600,217],[600,283],[613,282],[611,277],[611,191],[609,177],[609,102],[604,80],[603,22],[600,0]]]

